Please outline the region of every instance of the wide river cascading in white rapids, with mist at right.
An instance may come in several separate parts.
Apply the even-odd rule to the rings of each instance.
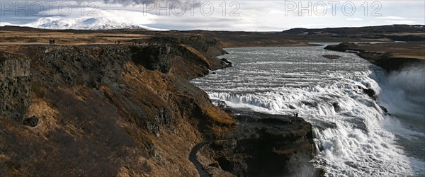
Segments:
[[[425,67],[386,75],[357,55],[323,48],[227,48],[222,57],[234,67],[192,82],[232,108],[298,113],[313,125],[314,165],[327,176],[424,176]]]

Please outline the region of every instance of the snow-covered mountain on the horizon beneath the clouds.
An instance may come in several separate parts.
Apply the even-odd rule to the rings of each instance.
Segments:
[[[105,18],[105,17],[80,17],[80,18],[59,18],[46,17],[39,18],[33,23],[25,26],[33,28],[46,29],[75,29],[75,30],[111,30],[111,29],[145,29],[145,30],[162,30],[150,28],[145,25],[131,23],[121,18]]]

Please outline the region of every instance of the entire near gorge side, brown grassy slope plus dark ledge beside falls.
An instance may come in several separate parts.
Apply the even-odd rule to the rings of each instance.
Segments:
[[[212,176],[314,174],[309,123],[261,113],[235,120],[188,81],[231,66],[215,58],[224,54],[218,43],[196,35],[147,47],[8,47],[0,53],[0,174],[198,176],[188,156],[205,141],[191,156]]]

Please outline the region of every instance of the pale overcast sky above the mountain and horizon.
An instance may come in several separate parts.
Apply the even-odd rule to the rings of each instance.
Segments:
[[[425,23],[425,1],[7,1],[0,25],[39,18],[106,17],[169,30],[279,31],[289,28]]]

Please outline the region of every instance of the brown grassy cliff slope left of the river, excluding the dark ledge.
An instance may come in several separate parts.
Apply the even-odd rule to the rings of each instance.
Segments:
[[[10,52],[23,56],[1,52],[0,174],[196,176],[188,161],[193,145],[234,129],[234,120],[188,81],[226,64],[191,45]],[[37,126],[21,124],[32,116]]]

